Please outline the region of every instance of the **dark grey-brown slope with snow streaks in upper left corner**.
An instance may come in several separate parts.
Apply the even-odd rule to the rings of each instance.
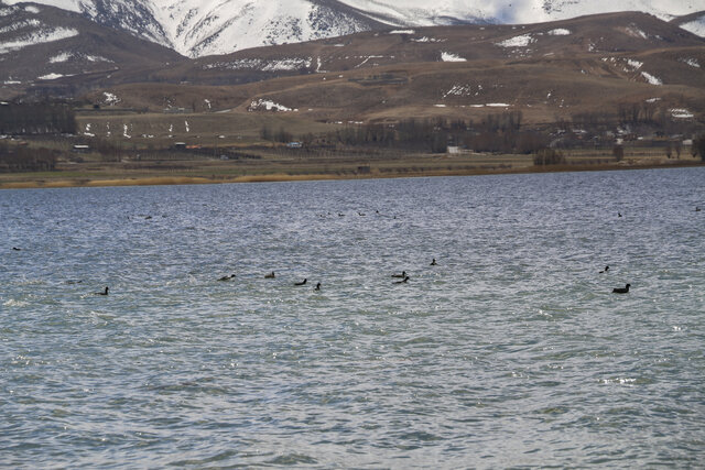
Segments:
[[[70,11],[35,4],[0,8],[0,86],[12,96],[74,77],[85,88],[96,77],[144,80],[144,70],[185,61],[176,52],[100,26]]]

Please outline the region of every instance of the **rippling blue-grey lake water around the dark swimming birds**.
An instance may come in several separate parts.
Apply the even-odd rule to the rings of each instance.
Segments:
[[[701,467],[696,206],[703,168],[2,190],[0,466]]]

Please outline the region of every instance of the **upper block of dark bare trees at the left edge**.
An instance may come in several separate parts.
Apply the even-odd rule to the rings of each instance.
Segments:
[[[0,103],[0,134],[76,133],[76,114],[61,102]]]

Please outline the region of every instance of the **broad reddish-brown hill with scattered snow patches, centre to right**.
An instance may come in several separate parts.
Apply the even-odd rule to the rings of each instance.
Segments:
[[[521,111],[541,123],[632,106],[664,119],[705,116],[705,40],[643,13],[388,29],[200,57],[152,77],[86,99],[109,105],[106,97],[117,96],[153,111],[169,103],[214,122],[234,112],[394,122]]]

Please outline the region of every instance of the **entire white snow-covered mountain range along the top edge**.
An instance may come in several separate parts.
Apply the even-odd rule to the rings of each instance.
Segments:
[[[4,0],[6,4],[20,0]],[[662,19],[705,0],[36,0],[197,57],[339,36],[384,26],[535,23],[643,11]]]

